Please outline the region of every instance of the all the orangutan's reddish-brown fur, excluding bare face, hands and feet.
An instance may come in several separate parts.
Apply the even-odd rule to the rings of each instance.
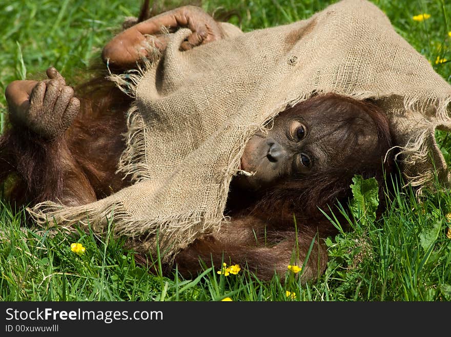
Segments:
[[[140,18],[147,15],[143,11]],[[125,148],[121,133],[126,131],[125,113],[131,98],[103,76],[77,87],[75,96],[81,101],[80,113],[64,137],[43,141],[29,130],[13,126],[0,139],[0,181],[12,173],[18,177],[9,191],[10,200],[19,205],[44,200],[83,205],[130,184],[115,171]],[[334,99],[334,104],[347,100]],[[315,109],[313,103],[307,102],[303,108]],[[212,262],[220,267],[222,261],[242,267],[247,264],[259,278],[270,279],[275,273],[282,275],[290,263],[302,264],[314,242],[302,279],[318,277],[327,261],[322,239],[335,233],[318,206],[327,209],[336,199],[345,202],[355,173],[376,176],[381,182],[384,169],[389,169],[381,163],[391,146],[386,118],[369,103],[359,108],[378,126],[382,146],[377,153],[364,162],[359,158],[346,167],[331,167],[308,179],[290,179],[257,196],[249,195],[244,202],[243,191],[232,186],[226,210],[231,222],[181,251],[175,259],[179,272],[187,277],[197,273],[202,268],[200,258],[207,267]],[[235,198],[236,193],[240,199]],[[239,201],[234,203],[235,199]],[[293,255],[296,247],[299,251]],[[167,267],[170,273],[172,268]]]

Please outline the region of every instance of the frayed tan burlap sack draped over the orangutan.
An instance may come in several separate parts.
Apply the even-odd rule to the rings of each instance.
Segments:
[[[344,0],[311,18],[242,33],[181,52],[190,34],[172,35],[159,60],[115,80],[134,94],[119,170],[134,185],[81,207],[44,203],[37,220],[92,226],[163,260],[202,234],[227,226],[229,184],[252,134],[312,94],[373,98],[391,121],[409,182],[449,173],[434,131],[451,130],[451,86],[364,0]]]

